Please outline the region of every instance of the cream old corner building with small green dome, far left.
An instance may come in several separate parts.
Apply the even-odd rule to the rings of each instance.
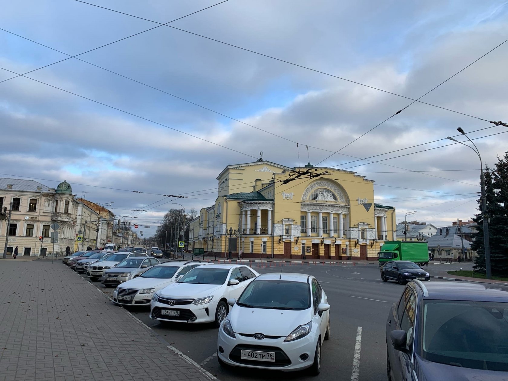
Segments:
[[[8,255],[16,246],[18,256],[44,256],[65,251],[67,246],[71,251],[95,247],[99,219],[98,212],[75,198],[67,181],[51,188],[34,180],[0,178],[2,253],[6,237]]]

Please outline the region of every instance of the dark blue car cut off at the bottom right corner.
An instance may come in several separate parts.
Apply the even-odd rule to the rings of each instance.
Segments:
[[[389,381],[506,381],[508,286],[411,281],[386,341]]]

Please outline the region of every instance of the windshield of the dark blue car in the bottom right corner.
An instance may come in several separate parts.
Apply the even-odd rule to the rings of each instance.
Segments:
[[[508,371],[508,303],[426,301],[422,357],[464,368]]]

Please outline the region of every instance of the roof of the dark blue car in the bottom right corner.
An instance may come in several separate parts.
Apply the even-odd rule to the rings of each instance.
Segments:
[[[433,281],[416,283],[416,289],[427,293],[425,299],[508,303],[508,284]]]

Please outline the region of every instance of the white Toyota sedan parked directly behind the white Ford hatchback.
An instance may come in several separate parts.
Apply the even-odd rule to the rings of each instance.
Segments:
[[[245,265],[209,265],[190,270],[153,295],[150,317],[161,322],[220,323],[228,299],[238,298],[259,274]]]

